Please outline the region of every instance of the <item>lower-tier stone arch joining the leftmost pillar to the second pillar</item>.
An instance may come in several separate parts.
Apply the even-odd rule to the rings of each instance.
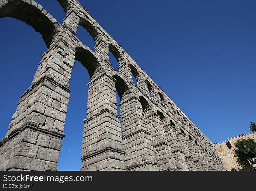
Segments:
[[[76,50],[75,60],[78,60],[87,69],[92,79],[98,70],[104,68],[104,64],[95,52],[81,42],[73,42],[72,45]]]

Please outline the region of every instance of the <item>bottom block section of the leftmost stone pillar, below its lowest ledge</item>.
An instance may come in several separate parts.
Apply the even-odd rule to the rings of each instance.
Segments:
[[[25,121],[0,142],[0,170],[57,170],[64,133]]]

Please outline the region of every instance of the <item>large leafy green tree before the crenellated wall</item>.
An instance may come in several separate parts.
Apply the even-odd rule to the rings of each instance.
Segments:
[[[243,170],[252,170],[253,168],[249,165],[249,158],[254,158],[256,156],[256,142],[250,139],[237,140],[235,143],[237,155],[237,163],[242,166]]]

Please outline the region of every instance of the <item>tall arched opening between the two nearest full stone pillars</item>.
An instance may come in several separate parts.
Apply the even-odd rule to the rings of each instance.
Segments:
[[[76,47],[75,63],[69,82],[70,99],[65,120],[58,170],[80,170],[81,145],[83,142],[83,119],[86,119],[88,102],[88,83],[93,78],[99,63],[91,50],[79,44]]]

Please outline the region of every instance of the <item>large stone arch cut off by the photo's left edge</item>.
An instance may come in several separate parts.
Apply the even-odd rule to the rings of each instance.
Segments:
[[[36,32],[42,35],[47,48],[50,47],[57,33],[63,33],[56,19],[35,1],[1,0],[0,5],[0,18],[12,17],[32,26]]]

